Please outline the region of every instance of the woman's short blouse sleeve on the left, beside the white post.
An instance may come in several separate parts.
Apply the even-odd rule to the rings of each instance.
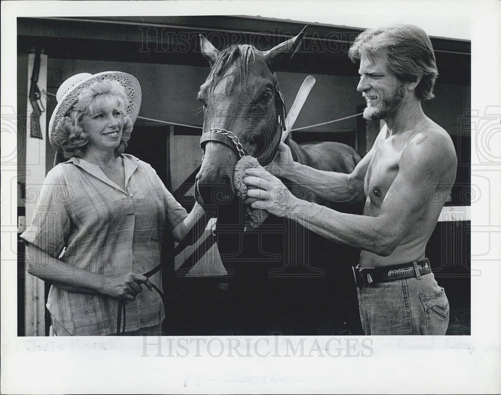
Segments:
[[[40,191],[31,225],[21,238],[57,258],[70,233],[70,218],[66,210],[68,188],[62,176],[63,165],[48,174]]]

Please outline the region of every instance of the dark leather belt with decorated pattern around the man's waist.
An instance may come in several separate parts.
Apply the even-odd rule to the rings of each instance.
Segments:
[[[405,278],[419,278],[431,273],[428,258],[422,261],[402,263],[400,265],[383,267],[354,267],[355,282],[357,287],[374,285],[380,282],[402,280]]]

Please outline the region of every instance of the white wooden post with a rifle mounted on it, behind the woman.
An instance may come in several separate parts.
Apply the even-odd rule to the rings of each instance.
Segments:
[[[28,91],[30,92],[31,76],[35,54],[28,55]],[[41,92],[47,91],[47,56],[40,55],[40,73],[38,87]],[[44,94],[41,97],[42,106],[47,108]],[[30,117],[33,108],[27,101],[27,114]],[[26,122],[26,224],[29,226],[33,219],[33,211],[40,196],[42,183],[45,179],[45,145],[47,139],[47,114],[44,111],[40,116],[42,139],[30,136],[31,123]],[[26,336],[45,336],[45,282],[26,273],[25,278],[25,334]]]

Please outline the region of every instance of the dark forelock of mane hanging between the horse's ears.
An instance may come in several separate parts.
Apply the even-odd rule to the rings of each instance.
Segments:
[[[255,48],[248,44],[232,44],[223,49],[209,74],[211,90],[215,88],[226,70],[237,61],[240,67],[240,83],[245,81],[246,84],[249,67],[256,62]]]

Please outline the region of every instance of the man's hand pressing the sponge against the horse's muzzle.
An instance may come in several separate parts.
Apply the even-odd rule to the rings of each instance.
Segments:
[[[245,185],[259,188],[247,190],[248,197],[260,199],[251,204],[253,208],[260,208],[271,214],[284,217],[297,206],[299,199],[287,189],[282,181],[263,167],[246,169],[246,173],[247,177],[243,179]]]

